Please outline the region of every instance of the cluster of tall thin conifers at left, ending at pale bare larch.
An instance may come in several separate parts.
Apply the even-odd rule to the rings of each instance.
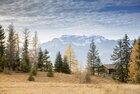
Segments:
[[[37,68],[37,33],[32,40],[32,53],[29,53],[29,34],[28,29],[23,31],[23,43],[20,47],[19,34],[14,25],[10,24],[7,30],[0,25],[0,72],[30,72],[31,68]]]

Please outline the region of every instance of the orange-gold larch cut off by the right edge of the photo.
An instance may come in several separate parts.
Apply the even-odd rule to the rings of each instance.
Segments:
[[[140,83],[140,38],[134,41],[130,56],[129,77],[135,83]]]

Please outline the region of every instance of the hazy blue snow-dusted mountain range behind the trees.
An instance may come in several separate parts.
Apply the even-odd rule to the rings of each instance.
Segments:
[[[84,66],[86,65],[87,52],[92,39],[95,41],[102,63],[112,63],[110,57],[117,41],[109,40],[102,36],[63,35],[60,38],[54,38],[51,41],[43,43],[41,47],[43,50],[47,49],[50,52],[51,60],[54,62],[58,51],[64,55],[65,49],[71,43],[77,60]]]

